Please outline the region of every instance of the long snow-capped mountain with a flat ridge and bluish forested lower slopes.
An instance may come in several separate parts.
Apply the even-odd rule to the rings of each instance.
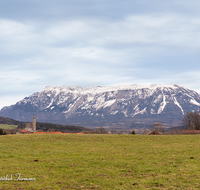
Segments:
[[[114,87],[48,86],[0,115],[16,120],[74,124],[87,127],[134,127],[160,121],[178,125],[188,111],[200,108],[200,95],[179,85],[121,85]]]

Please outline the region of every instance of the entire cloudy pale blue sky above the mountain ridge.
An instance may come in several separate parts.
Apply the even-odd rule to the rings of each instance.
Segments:
[[[200,93],[199,0],[0,0],[0,109],[46,86]]]

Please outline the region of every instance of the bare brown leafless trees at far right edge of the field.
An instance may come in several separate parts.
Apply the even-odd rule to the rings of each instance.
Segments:
[[[187,112],[182,119],[182,124],[190,130],[200,130],[200,111]]]

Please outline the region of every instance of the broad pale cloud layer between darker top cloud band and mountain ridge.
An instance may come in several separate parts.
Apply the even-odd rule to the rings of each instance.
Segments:
[[[192,82],[200,75],[185,75],[200,69],[199,17],[165,12],[45,21],[0,19],[4,93],[9,88],[33,93],[46,85],[150,82],[198,89]]]

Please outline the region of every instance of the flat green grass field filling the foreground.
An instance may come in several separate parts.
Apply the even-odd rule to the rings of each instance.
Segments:
[[[200,189],[200,135],[4,135],[0,150],[1,190]]]

